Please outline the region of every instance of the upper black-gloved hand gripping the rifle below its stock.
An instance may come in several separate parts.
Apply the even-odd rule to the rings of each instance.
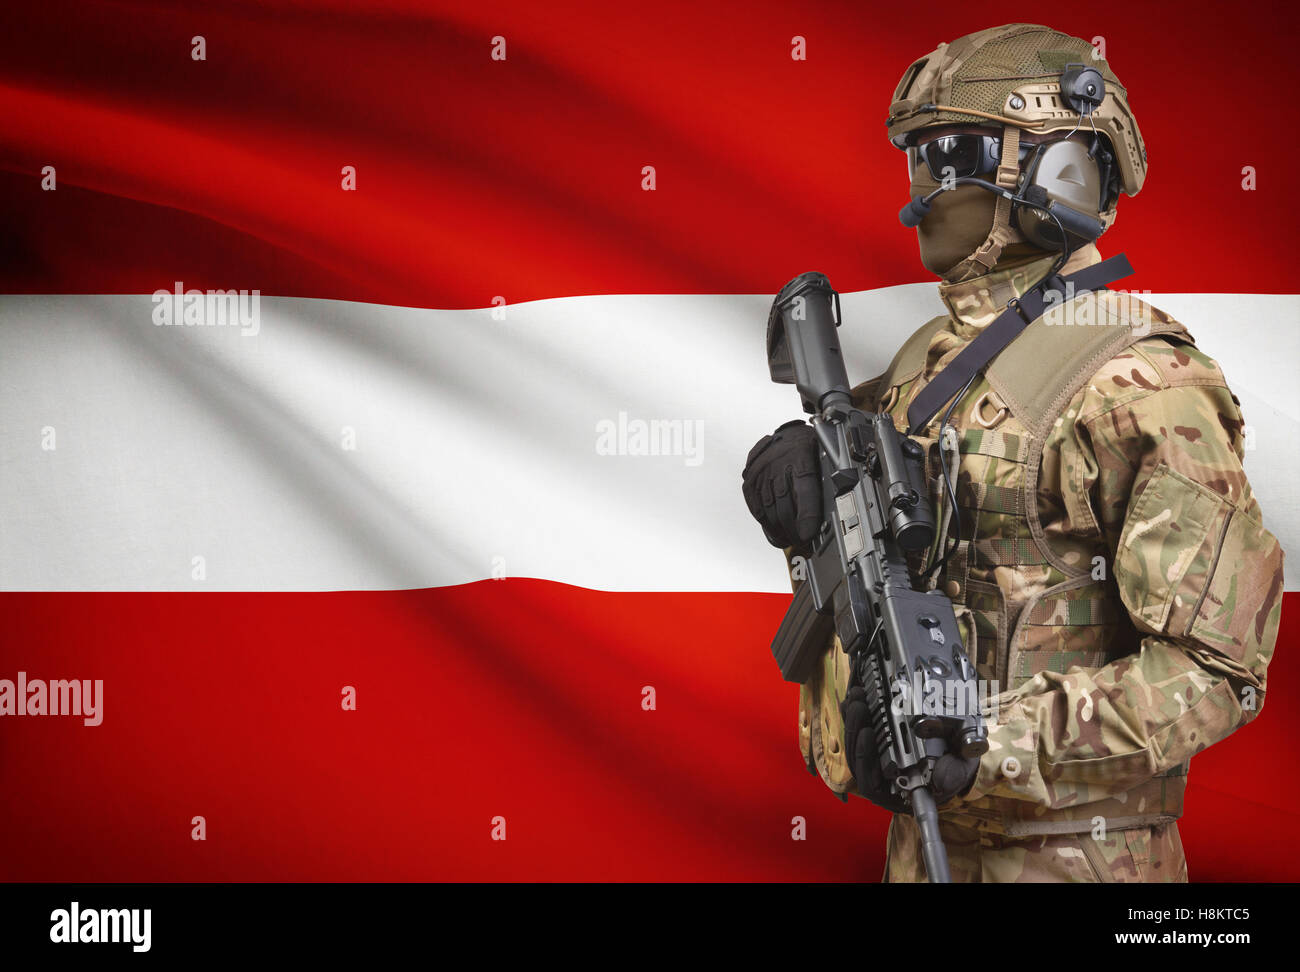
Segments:
[[[822,465],[812,426],[796,418],[749,451],[741,491],[768,543],[806,552],[822,526]]]

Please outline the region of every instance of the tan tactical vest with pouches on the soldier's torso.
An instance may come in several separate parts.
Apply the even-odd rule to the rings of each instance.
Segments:
[[[1112,552],[1100,538],[1046,537],[1040,522],[1039,474],[1044,446],[1057,420],[1084,383],[1112,357],[1153,335],[1192,342],[1186,329],[1147,308],[1149,326],[1139,331],[1114,294],[1101,291],[1075,299],[1091,301],[1074,314],[1093,324],[1061,324],[1045,314],[1017,337],[976,378],[952,411],[949,425],[961,448],[954,481],[963,539],[945,565],[937,586],[952,598],[968,625],[972,661],[982,680],[1004,690],[1010,704],[1039,672],[1065,673],[1072,667],[1098,668],[1139,650],[1141,637],[1128,620],[1110,572]],[[1089,316],[1091,314],[1091,316]],[[923,386],[931,338],[948,324],[937,317],[902,346],[879,378],[855,389],[862,408],[889,412],[906,428],[907,404]],[[918,385],[919,382],[919,385]],[[936,509],[950,507],[939,463],[940,417],[916,435],[927,447]],[[974,534],[974,537],[972,537]],[[1100,557],[1101,560],[1095,560]],[[1101,569],[1097,568],[1101,564]],[[1095,574],[1098,577],[1095,580]],[[824,677],[841,665],[828,661]],[[814,706],[827,719],[824,704]],[[801,735],[807,737],[807,725]],[[838,773],[831,765],[837,741],[805,754],[828,785]],[[820,751],[818,751],[820,750]],[[1136,754],[1145,759],[1145,754]],[[818,765],[820,763],[822,765]],[[1098,773],[1105,769],[1098,768]],[[944,813],[944,820],[1011,837],[1083,833],[1104,817],[1109,830],[1149,826],[1182,815],[1187,764],[1130,790],[1118,799],[1079,806],[1043,807],[1028,800],[985,797]],[[845,780],[842,787],[849,789]]]

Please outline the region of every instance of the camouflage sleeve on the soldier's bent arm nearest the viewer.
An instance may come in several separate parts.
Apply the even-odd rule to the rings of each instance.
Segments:
[[[1264,704],[1283,555],[1242,468],[1236,399],[1191,344],[1149,339],[1126,357],[1128,379],[1076,396],[1066,450],[1086,507],[1076,518],[1112,552],[1140,648],[1000,697],[967,799],[1057,808],[1118,797]],[[1028,772],[1008,778],[1008,756]]]

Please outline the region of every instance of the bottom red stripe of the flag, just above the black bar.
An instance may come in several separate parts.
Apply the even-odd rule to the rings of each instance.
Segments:
[[[1297,596],[1265,712],[1193,760],[1195,880],[1300,877],[1300,791],[1278,772]],[[801,765],[766,650],[788,600],[524,580],[0,594],[8,667],[104,680],[99,726],[5,717],[3,876],[878,880],[888,815]]]

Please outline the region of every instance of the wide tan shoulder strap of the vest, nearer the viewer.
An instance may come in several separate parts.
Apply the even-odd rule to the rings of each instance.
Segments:
[[[1154,308],[1144,305],[1147,320],[1136,327],[1106,300],[1106,291],[1079,300],[1092,301],[1093,324],[1062,324],[1060,313],[1045,313],[984,372],[1011,415],[1036,438],[1045,437],[1084,382],[1128,346],[1161,334],[1191,340],[1182,324]]]

